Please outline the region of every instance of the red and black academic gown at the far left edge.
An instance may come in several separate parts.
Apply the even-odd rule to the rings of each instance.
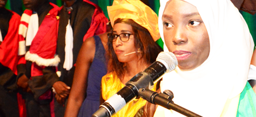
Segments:
[[[18,29],[21,17],[11,11],[4,9],[11,14],[8,24],[8,32],[0,45],[0,111],[1,116],[19,116],[17,102],[17,63],[18,63]],[[11,114],[11,115],[10,115]]]

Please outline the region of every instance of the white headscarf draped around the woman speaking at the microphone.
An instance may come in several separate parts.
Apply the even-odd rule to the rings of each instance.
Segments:
[[[158,26],[163,41],[162,15],[167,1],[160,0],[159,9]],[[181,71],[177,67],[164,75],[161,91],[171,90],[174,103],[196,114],[219,117],[227,99],[240,94],[246,85],[254,50],[253,38],[230,0],[184,1],[197,7],[209,35],[210,53],[194,70]],[[164,50],[168,51],[166,45]],[[175,114],[172,117],[181,116]]]

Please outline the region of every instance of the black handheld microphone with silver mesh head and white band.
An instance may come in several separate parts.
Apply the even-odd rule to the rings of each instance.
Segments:
[[[140,88],[152,89],[161,76],[175,70],[178,60],[172,52],[160,52],[156,61],[146,70],[132,77],[124,88],[107,99],[92,117],[111,117],[136,97]]]

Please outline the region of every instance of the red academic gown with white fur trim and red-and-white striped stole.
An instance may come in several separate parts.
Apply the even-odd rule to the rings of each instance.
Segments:
[[[33,93],[34,101],[39,105],[50,104],[53,98],[51,87],[53,83],[58,81],[58,78],[55,79],[55,67],[59,63],[59,58],[55,55],[55,51],[58,32],[58,12],[60,8],[55,4],[50,4],[53,8],[45,16],[39,26],[38,32],[33,38],[29,50],[26,50],[28,47],[25,46],[25,38],[29,19],[32,15],[31,10],[25,10],[22,15],[22,22],[20,24],[21,30],[19,32],[18,76],[26,74],[29,78],[28,86]],[[29,99],[26,98],[26,102],[27,100]],[[27,111],[29,111],[27,114],[35,109],[27,103],[26,107]]]

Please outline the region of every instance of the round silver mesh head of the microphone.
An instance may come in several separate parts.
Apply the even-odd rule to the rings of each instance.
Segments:
[[[175,70],[178,65],[178,60],[172,52],[160,52],[156,58],[156,61],[161,62],[166,67],[166,72]]]

